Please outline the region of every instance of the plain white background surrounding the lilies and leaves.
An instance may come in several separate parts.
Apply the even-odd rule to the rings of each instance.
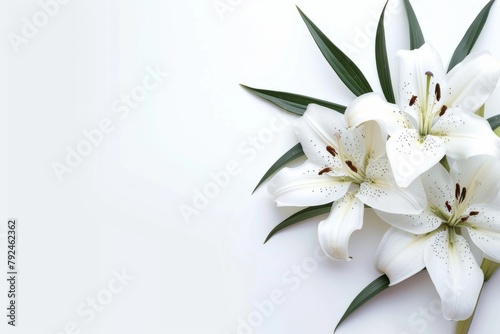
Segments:
[[[409,45],[403,7],[392,1],[386,14],[391,66],[396,50]],[[231,10],[218,12],[216,3]],[[424,35],[446,65],[485,3],[413,1]],[[263,245],[297,210],[276,208],[265,187],[251,194],[296,143],[294,117],[238,84],[341,104],[354,98],[315,46],[299,5],[380,91],[372,36],[383,4],[72,0],[15,52],[9,34],[20,35],[23,18],[33,22],[41,7],[35,0],[2,0],[0,232],[8,218],[18,219],[20,276],[18,326],[6,325],[2,306],[0,332],[332,333],[352,298],[380,275],[374,251],[387,227],[367,211],[349,263],[318,260],[319,218]],[[496,4],[476,50],[500,57],[499,20]],[[168,76],[120,119],[113,103],[142,83],[148,67]],[[487,115],[498,113],[499,103],[496,91]],[[68,147],[85,140],[82,131],[106,118],[114,131],[59,182],[54,162],[65,163]],[[279,131],[270,132],[276,125]],[[219,194],[183,217],[181,208],[193,207],[211,175],[234,163],[237,173]],[[5,238],[0,247],[4,263]],[[134,278],[105,299],[95,318],[82,315],[78,309],[89,310],[88,298],[110,296],[113,272],[122,270]],[[499,280],[496,275],[486,286],[471,334],[500,329]],[[5,283],[0,305],[7,303]],[[269,307],[273,293],[280,303]],[[436,315],[437,298],[420,273],[377,296],[337,333],[453,333],[454,324]],[[244,330],[248,321],[254,325]]]

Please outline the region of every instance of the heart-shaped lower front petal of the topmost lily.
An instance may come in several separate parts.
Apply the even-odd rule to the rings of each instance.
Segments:
[[[438,163],[445,152],[441,138],[427,135],[422,140],[414,129],[402,129],[387,141],[387,157],[400,187],[410,185],[420,174]]]

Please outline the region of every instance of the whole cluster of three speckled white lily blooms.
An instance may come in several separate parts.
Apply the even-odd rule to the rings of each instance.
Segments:
[[[391,285],[426,268],[446,319],[464,320],[484,282],[472,248],[500,262],[500,139],[476,112],[500,77],[487,52],[446,73],[429,45],[397,53],[396,104],[376,93],[339,113],[310,104],[295,124],[307,157],[269,183],[279,206],[332,203],[324,252],[349,260],[364,207],[391,227],[376,253]],[[466,235],[466,232],[468,236]]]

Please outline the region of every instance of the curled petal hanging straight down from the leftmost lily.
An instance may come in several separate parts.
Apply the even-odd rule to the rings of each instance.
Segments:
[[[333,203],[328,218],[319,223],[318,237],[326,255],[336,260],[348,260],[351,234],[363,226],[364,206],[352,192]]]

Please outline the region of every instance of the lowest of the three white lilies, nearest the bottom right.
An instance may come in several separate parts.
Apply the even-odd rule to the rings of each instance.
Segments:
[[[467,230],[485,256],[500,262],[498,170],[500,160],[490,156],[456,161],[450,173],[437,164],[421,175],[428,200],[422,213],[375,210],[393,225],[377,250],[378,269],[394,285],[427,268],[448,320],[469,318],[483,285],[483,272],[461,233]]]

